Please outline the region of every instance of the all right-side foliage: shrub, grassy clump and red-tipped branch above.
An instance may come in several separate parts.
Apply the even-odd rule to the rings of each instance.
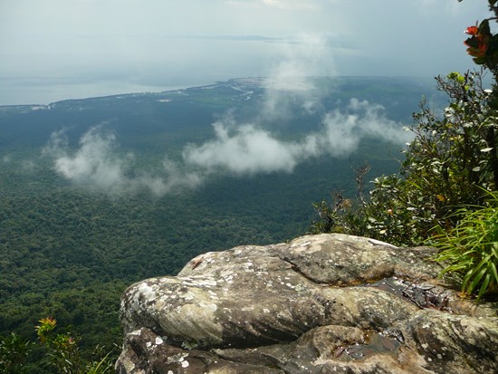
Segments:
[[[450,103],[438,116],[422,101],[399,173],[377,177],[368,201],[359,186],[351,208],[337,192],[333,204],[315,204],[320,219],[311,225],[311,232],[435,244],[436,260],[449,262],[443,273],[463,275],[463,291],[477,291],[477,301],[498,282],[498,34],[489,25],[498,20],[497,3],[488,1],[495,17],[466,30],[467,53],[482,70],[436,78]],[[493,90],[484,89],[486,71]]]

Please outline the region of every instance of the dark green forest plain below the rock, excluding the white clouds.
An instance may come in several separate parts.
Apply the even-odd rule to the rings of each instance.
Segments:
[[[147,188],[112,193],[76,183],[54,168],[44,149],[64,130],[66,152],[81,147],[91,127],[116,134],[127,177],[159,168],[165,155],[213,137],[211,124],[227,111],[237,123],[258,124],[279,139],[302,139],[326,112],[351,99],[381,105],[384,120],[409,125],[423,96],[442,107],[433,80],[314,78],[320,106],[281,91],[288,116],[262,118],[267,91],[234,80],[181,91],[61,101],[46,107],[0,107],[0,336],[35,340],[34,326],[57,319],[81,340],[81,354],[120,345],[120,294],[131,283],[174,275],[192,257],[236,245],[265,245],[310,232],[313,203],[341,191],[356,194],[355,168],[369,177],[396,172],[404,144],[374,136],[344,156],[308,158],[292,172],[209,175],[196,188],[154,195]],[[315,92],[316,95],[319,93]],[[315,95],[315,96],[316,96]],[[317,99],[315,99],[317,101]],[[360,135],[359,135],[360,137]],[[369,186],[366,186],[369,187]],[[52,372],[46,351],[34,349],[27,372]]]

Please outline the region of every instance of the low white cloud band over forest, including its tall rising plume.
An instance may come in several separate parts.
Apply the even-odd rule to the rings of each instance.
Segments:
[[[268,68],[254,118],[241,122],[233,115],[236,109],[228,110],[212,124],[212,139],[187,144],[175,161],[165,154],[162,166],[155,170],[132,169],[134,155],[123,156],[118,149],[119,133],[107,131],[105,125],[84,134],[76,150],[67,147],[62,131],[53,133],[44,153],[53,157],[57,173],[73,183],[112,193],[148,188],[161,196],[199,187],[212,176],[292,173],[310,158],[347,157],[362,139],[406,143],[410,134],[402,124],[389,120],[386,110],[376,103],[350,99],[334,110],[326,109],[323,99],[330,95],[330,88],[317,86],[308,77],[335,74],[329,44],[330,38],[313,34],[279,43],[281,59]],[[310,118],[319,119],[299,139],[283,139],[265,127],[269,121],[292,120],[289,95],[302,103],[302,111]]]

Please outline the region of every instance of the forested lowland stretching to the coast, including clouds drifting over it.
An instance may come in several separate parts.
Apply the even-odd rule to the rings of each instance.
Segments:
[[[430,80],[307,82],[0,107],[0,335],[34,338],[53,316],[83,350],[120,343],[126,286],[305,234],[313,202],[354,194],[354,168],[397,170],[402,127],[434,92]]]

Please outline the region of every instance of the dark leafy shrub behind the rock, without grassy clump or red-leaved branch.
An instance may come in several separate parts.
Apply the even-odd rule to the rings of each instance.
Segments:
[[[492,91],[484,89],[481,72],[451,73],[436,81],[452,101],[442,116],[422,101],[399,173],[376,177],[368,200],[359,187],[353,209],[340,206],[337,198],[335,206],[315,205],[320,220],[312,232],[340,231],[396,245],[421,245],[436,225],[449,228],[458,222],[458,206],[480,206],[483,189],[498,186],[498,112],[488,105]]]

